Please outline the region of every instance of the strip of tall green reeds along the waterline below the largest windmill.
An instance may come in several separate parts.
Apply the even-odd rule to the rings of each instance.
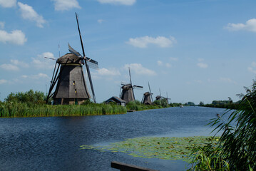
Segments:
[[[111,115],[121,113],[126,113],[126,108],[123,106],[94,103],[87,105],[36,105],[11,102],[0,104],[1,118]]]

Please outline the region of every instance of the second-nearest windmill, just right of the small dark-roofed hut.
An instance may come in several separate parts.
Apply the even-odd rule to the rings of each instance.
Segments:
[[[129,67],[129,76],[130,76],[130,67]],[[121,83],[121,93],[120,93],[120,98],[122,100],[125,100],[126,103],[129,103],[130,101],[134,101],[135,100],[135,96],[134,96],[134,92],[133,89],[134,88],[143,88],[143,86],[133,86],[132,82],[131,82],[131,77],[130,77],[130,83]]]

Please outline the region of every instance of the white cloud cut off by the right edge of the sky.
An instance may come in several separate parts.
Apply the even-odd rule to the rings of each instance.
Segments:
[[[250,19],[246,21],[245,24],[227,24],[224,28],[227,28],[230,31],[240,31],[240,30],[245,30],[245,31],[252,31],[256,32],[256,19]]]

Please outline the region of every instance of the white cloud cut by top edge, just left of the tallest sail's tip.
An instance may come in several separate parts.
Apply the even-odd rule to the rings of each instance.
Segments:
[[[54,1],[54,9],[56,11],[68,11],[70,9],[76,8],[81,9],[78,1],[76,0],[51,0]]]

